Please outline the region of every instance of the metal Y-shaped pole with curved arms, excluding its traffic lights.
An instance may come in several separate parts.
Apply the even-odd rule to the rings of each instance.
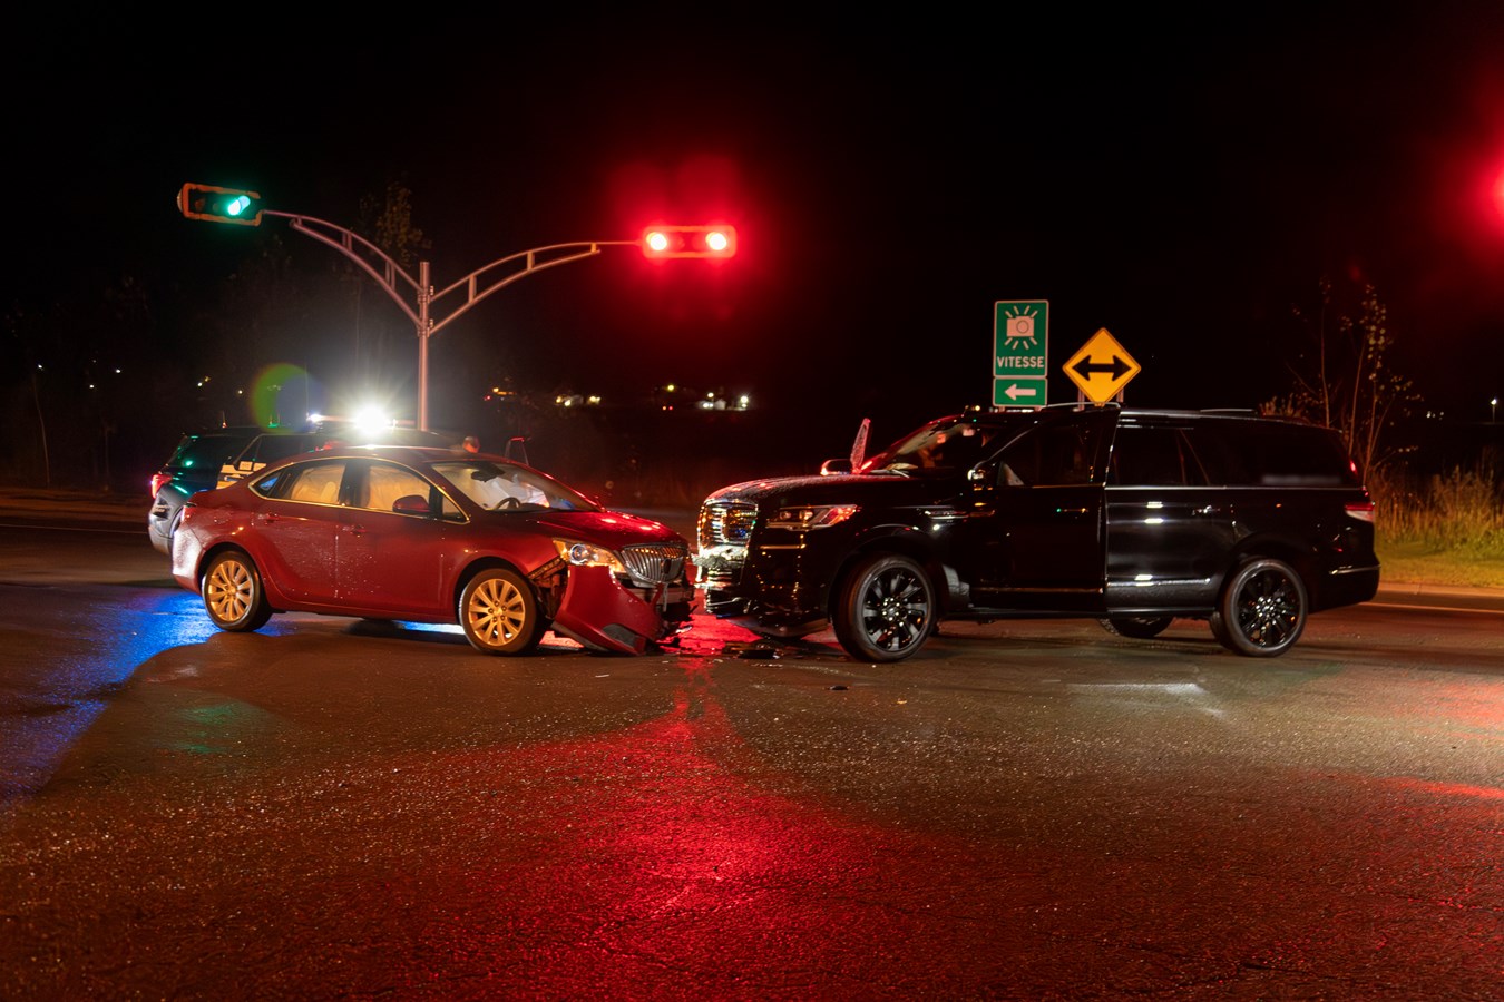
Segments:
[[[344,227],[292,212],[263,209],[262,215],[287,219],[287,225],[298,233],[310,236],[355,261],[356,267],[370,275],[412,320],[418,333],[418,428],[424,431],[429,430],[429,338],[469,312],[487,296],[528,275],[596,257],[603,246],[639,246],[639,240],[576,240],[535,246],[531,251],[499,257],[442,290],[433,291],[429,261],[418,261],[418,278],[414,278],[379,246]],[[435,305],[456,293],[463,293],[463,300],[448,315],[436,320]]]

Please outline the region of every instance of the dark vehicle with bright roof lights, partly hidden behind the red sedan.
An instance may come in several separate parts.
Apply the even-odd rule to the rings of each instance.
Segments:
[[[263,428],[230,425],[185,434],[177,448],[152,475],[152,506],[146,514],[146,533],[165,554],[173,551],[173,533],[182,517],[183,502],[199,491],[226,487],[254,473],[268,463],[311,452],[326,445],[456,445],[459,437],[438,431],[382,427],[374,431],[353,424],[320,421],[301,428]]]

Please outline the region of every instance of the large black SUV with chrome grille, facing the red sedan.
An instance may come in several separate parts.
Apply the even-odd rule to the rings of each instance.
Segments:
[[[945,619],[1065,616],[1140,638],[1205,619],[1272,656],[1379,586],[1373,502],[1328,428],[1068,404],[952,415],[868,460],[863,439],[820,476],[705,499],[705,611],[833,626],[860,661],[907,658]]]

